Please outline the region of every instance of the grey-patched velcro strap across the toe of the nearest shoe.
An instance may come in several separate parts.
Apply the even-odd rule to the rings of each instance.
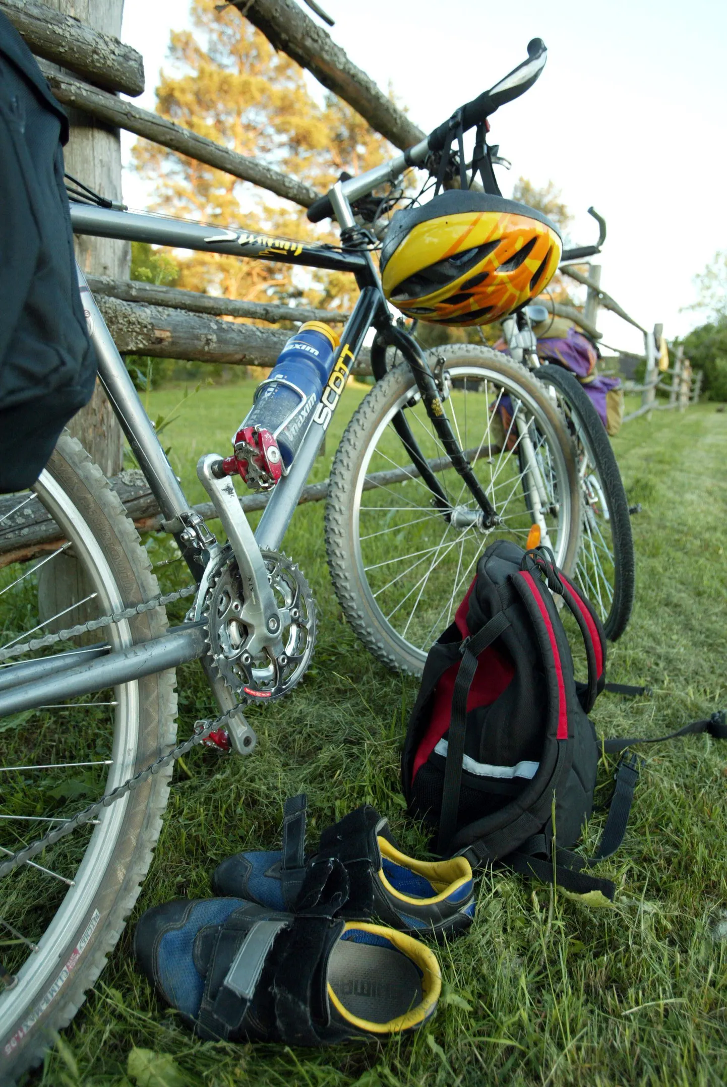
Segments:
[[[278,915],[255,920],[243,929],[239,920],[231,914],[220,928],[199,1014],[199,1025],[204,1032],[225,1039],[239,1029],[273,945],[291,924],[291,919]]]

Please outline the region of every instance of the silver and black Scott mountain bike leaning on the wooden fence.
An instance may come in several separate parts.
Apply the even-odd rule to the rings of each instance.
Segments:
[[[523,64],[459,111],[464,126],[522,95],[544,63],[546,47],[535,39]],[[331,577],[364,645],[389,666],[419,674],[497,538],[526,545],[535,526],[559,565],[576,563],[582,487],[557,403],[526,367],[497,352],[471,345],[424,352],[392,320],[371,234],[354,217],[358,200],[430,162],[448,130],[447,122],[316,201],[310,217],[333,213],[340,246],[137,214],[108,201],[72,204],[80,234],[348,272],[360,296],[302,445],[268,491],[254,533],[223,457],[200,459],[223,542],[185,497],[78,273],[100,379],[190,584],[159,592],[118,497],[67,435],[32,490],[0,502],[5,1078],[41,1059],[118,939],[151,861],[174,760],[210,737],[250,753],[246,708],[287,695],[308,669],[315,607],[280,546],[371,328],[375,385],[334,458],[326,510]],[[498,412],[505,398],[506,427]],[[28,524],[42,529],[32,544],[24,542]],[[165,607],[179,599],[189,610],[170,628]],[[175,747],[174,669],[193,660],[221,713]]]

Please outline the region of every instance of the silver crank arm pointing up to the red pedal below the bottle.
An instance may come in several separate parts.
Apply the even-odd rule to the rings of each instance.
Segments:
[[[217,516],[227,534],[242,579],[240,622],[248,628],[246,650],[252,657],[268,649],[274,658],[284,652],[280,633],[283,616],[267,578],[267,567],[255,542],[252,528],[240,507],[229,476],[221,473],[222,458],[208,453],[199,459],[197,475],[212,499]]]

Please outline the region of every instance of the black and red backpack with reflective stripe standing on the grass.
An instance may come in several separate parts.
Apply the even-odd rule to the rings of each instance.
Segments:
[[[575,679],[554,595],[582,636],[586,683]],[[588,714],[605,687],[605,660],[601,621],[547,548],[487,548],[429,651],[402,755],[410,814],[438,830],[437,852],[613,899],[615,885],[588,869],[623,840],[640,763],[627,749],[644,741],[597,738]],[[699,732],[727,739],[724,712],[673,736]],[[602,751],[623,753],[600,845],[584,858],[572,850],[593,810]]]

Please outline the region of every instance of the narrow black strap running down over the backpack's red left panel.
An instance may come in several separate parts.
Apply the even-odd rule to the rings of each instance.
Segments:
[[[444,852],[456,830],[462,786],[462,764],[467,722],[467,696],[477,671],[477,659],[502,632],[511,625],[503,611],[496,612],[477,634],[469,635],[460,646],[462,662],[454,680],[452,713],[450,716],[447,766],[442,787],[442,807],[439,817],[438,849]]]

